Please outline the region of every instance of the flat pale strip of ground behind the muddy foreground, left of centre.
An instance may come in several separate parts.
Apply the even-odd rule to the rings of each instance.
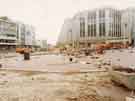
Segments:
[[[62,55],[36,55],[31,56],[31,59],[25,61],[23,55],[19,55],[13,58],[3,58],[0,60],[2,63],[2,69],[15,69],[15,70],[33,70],[44,72],[88,72],[90,70],[95,71],[94,64],[83,64],[77,62],[75,59],[73,62],[69,62],[69,57]],[[97,71],[100,71],[99,69]]]

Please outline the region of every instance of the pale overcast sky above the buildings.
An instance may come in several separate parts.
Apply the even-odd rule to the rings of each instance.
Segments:
[[[135,7],[135,0],[0,0],[0,16],[31,24],[37,39],[54,44],[64,19],[97,7]]]

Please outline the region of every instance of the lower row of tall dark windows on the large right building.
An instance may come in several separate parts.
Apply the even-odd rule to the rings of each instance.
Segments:
[[[121,37],[121,25],[120,24],[111,24],[112,26],[109,26],[109,36],[111,37]],[[96,24],[90,24],[88,25],[88,37],[95,37],[97,35],[96,33],[97,27]],[[106,36],[106,25],[105,23],[99,24],[99,36],[105,37]],[[80,37],[85,37],[85,23],[80,23]]]

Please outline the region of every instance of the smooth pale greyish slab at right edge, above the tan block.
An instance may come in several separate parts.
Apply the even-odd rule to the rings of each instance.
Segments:
[[[135,48],[109,50],[102,56],[102,60],[110,61],[112,65],[121,65],[123,67],[135,68]]]

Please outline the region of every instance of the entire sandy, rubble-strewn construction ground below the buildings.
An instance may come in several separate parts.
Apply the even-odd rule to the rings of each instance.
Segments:
[[[134,101],[135,49],[105,47],[2,54],[0,100]]]

